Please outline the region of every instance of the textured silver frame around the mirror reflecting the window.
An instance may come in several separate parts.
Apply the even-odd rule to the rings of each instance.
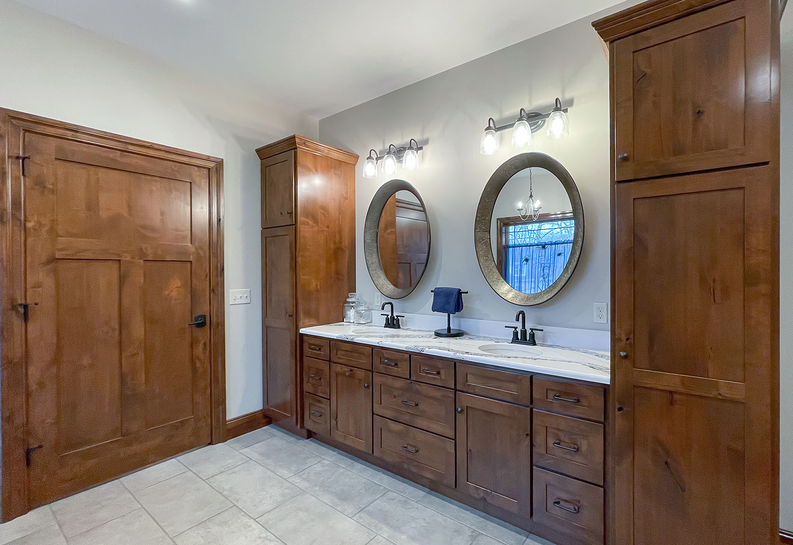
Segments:
[[[516,173],[529,167],[548,170],[561,181],[573,207],[573,220],[576,226],[576,231],[573,233],[573,249],[570,251],[565,269],[562,270],[554,284],[538,293],[519,292],[512,288],[507,280],[504,280],[496,266],[490,239],[493,208],[496,206],[496,199],[498,199],[501,189],[504,189],[504,185]],[[581,248],[584,246],[584,205],[581,204],[581,196],[576,182],[573,181],[573,177],[561,162],[549,155],[531,152],[515,155],[498,167],[485,185],[477,206],[477,218],[473,223],[473,246],[477,252],[477,261],[479,261],[479,268],[485,276],[485,280],[501,299],[520,307],[533,307],[545,303],[561,292],[561,288],[564,288],[570,277],[573,276],[573,271],[576,270],[576,265],[581,257]]]

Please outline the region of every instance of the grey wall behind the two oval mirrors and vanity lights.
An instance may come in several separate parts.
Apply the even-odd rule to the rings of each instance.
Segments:
[[[510,322],[517,308],[500,299],[483,278],[473,250],[473,219],[488,178],[517,151],[509,131],[500,151],[479,153],[488,117],[515,119],[521,107],[548,111],[560,97],[570,107],[570,136],[551,140],[535,133],[531,151],[557,158],[578,185],[584,202],[584,249],[562,292],[527,308],[534,324],[607,330],[592,322],[592,303],[610,300],[608,63],[591,21],[554,29],[320,120],[320,139],[362,155],[416,138],[426,148],[421,168],[399,170],[421,193],[431,223],[431,258],[416,291],[396,303],[400,312],[431,314],[430,290],[438,285],[468,290],[463,318]],[[431,51],[427,51],[430,55]],[[501,124],[501,123],[500,123]],[[366,211],[384,177],[367,180],[358,166],[358,292],[374,300],[366,271],[362,230]],[[439,326],[444,325],[440,314]]]

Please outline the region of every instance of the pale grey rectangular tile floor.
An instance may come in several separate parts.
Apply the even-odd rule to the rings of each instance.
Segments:
[[[0,545],[553,545],[272,426],[0,524]]]

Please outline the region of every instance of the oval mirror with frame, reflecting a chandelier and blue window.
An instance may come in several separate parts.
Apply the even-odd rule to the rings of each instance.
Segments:
[[[545,303],[564,288],[584,243],[584,208],[573,177],[556,159],[519,154],[482,192],[474,227],[477,260],[510,303]]]

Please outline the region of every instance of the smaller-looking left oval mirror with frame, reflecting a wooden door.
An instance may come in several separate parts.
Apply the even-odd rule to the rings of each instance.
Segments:
[[[363,253],[374,285],[402,299],[419,284],[430,256],[430,222],[419,192],[404,180],[374,194],[364,225]]]

